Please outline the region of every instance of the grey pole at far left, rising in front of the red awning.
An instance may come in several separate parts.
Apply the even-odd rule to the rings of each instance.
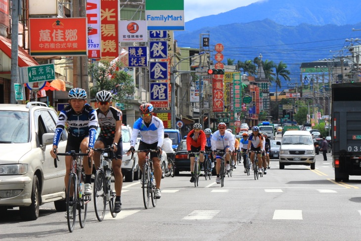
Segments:
[[[15,104],[15,84],[19,79],[18,65],[18,35],[19,35],[19,14],[21,12],[21,0],[11,1],[11,77],[10,77],[10,103]]]

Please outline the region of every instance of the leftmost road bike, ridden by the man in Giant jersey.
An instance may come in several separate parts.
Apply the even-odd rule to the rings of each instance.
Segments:
[[[85,227],[85,222],[87,220],[88,202],[91,200],[91,195],[83,194],[85,186],[83,156],[87,156],[88,153],[76,153],[74,150],[65,153],[56,153],[56,149],[53,149],[53,151],[56,154],[56,158],[54,159],[55,167],[57,167],[56,161],[59,161],[58,156],[71,156],[71,168],[66,192],[66,218],[68,221],[69,232],[72,233],[76,222],[77,210],[81,228]],[[91,167],[90,158],[88,158],[88,165]]]

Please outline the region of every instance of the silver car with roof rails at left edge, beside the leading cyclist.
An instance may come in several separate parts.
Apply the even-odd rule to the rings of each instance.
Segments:
[[[57,168],[50,156],[58,115],[45,103],[0,104],[0,211],[20,207],[24,220],[39,217],[39,206],[54,202],[65,211],[65,158]],[[65,152],[62,133],[58,151]]]

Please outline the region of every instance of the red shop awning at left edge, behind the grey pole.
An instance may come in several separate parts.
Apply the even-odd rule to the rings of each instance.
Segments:
[[[39,65],[23,48],[18,47],[19,67]],[[0,77],[10,79],[11,75],[11,40],[0,36]]]

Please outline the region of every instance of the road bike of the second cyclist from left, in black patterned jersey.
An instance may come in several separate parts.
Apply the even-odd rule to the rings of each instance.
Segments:
[[[109,203],[110,214],[113,218],[117,216],[114,212],[115,202],[115,184],[112,182],[114,177],[112,168],[112,159],[116,156],[111,146],[106,148],[95,148],[94,151],[100,152],[100,166],[97,168],[94,177],[94,209],[96,218],[99,222],[103,221],[105,209]]]

